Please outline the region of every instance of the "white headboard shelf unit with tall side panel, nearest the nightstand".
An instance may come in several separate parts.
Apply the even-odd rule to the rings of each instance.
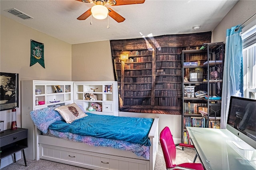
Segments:
[[[54,86],[59,85],[61,93],[54,93]],[[36,94],[36,89],[41,89],[41,94]],[[66,89],[66,91],[65,91]],[[36,139],[34,133],[36,128],[31,120],[30,111],[42,109],[54,105],[69,105],[74,103],[72,81],[41,81],[41,80],[24,80],[21,81],[21,127],[28,129],[28,148],[25,149],[26,158],[34,160],[36,150],[34,145]],[[38,101],[45,101],[44,105],[36,105]],[[50,101],[60,101],[50,103]]]

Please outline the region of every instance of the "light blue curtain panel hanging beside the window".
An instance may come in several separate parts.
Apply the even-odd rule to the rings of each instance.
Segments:
[[[243,97],[243,63],[242,63],[242,38],[241,28],[234,26],[226,31],[226,52],[224,59],[222,104],[221,104],[221,128],[226,128],[230,96]]]

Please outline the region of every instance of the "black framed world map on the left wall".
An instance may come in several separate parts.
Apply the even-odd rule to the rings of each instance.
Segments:
[[[19,74],[0,72],[0,111],[19,107]]]

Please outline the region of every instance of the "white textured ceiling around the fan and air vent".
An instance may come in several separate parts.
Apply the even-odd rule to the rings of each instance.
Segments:
[[[110,6],[126,18],[96,20],[78,16],[93,4],[76,0],[0,0],[1,15],[70,44],[208,32],[238,0],[146,0],[144,4]],[[5,10],[16,8],[34,19],[22,20]],[[90,21],[92,20],[92,25]],[[110,28],[107,28],[107,26]],[[200,25],[200,29],[192,27]],[[142,35],[143,34],[143,35]]]

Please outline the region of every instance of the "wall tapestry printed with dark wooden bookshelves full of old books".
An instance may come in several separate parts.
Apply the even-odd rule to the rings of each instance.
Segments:
[[[199,49],[211,34],[110,40],[120,111],[181,115],[182,50]],[[121,60],[124,50],[129,57]]]

